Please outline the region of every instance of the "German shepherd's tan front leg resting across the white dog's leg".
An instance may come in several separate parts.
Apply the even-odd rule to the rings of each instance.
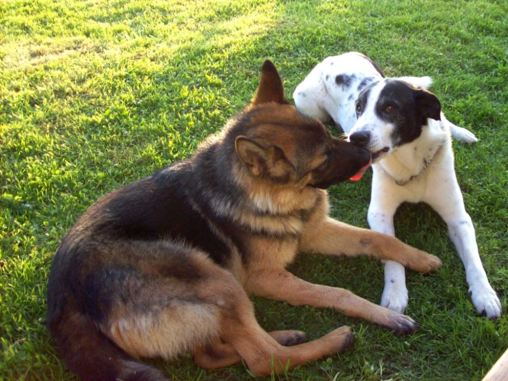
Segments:
[[[422,273],[434,271],[442,265],[439,258],[406,245],[395,237],[347,225],[330,217],[309,221],[299,250],[349,257],[365,254],[396,261]]]

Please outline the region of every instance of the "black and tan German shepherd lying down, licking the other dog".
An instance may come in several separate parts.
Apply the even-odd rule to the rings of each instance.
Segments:
[[[273,63],[251,104],[187,160],[94,203],[61,242],[48,284],[48,327],[85,380],[163,380],[141,358],[190,351],[214,369],[244,360],[255,375],[343,351],[341,327],[310,342],[267,333],[248,295],[336,308],[396,333],[418,325],[353,293],[284,268],[298,251],[394,260],[419,272],[438,258],[327,216],[326,188],[370,164],[284,99]]]

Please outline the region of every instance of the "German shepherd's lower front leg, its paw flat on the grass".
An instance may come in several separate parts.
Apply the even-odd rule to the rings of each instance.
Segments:
[[[309,283],[283,269],[258,270],[249,274],[248,292],[292,305],[335,308],[350,317],[360,317],[395,333],[409,334],[418,324],[409,316],[378,306],[350,291]]]

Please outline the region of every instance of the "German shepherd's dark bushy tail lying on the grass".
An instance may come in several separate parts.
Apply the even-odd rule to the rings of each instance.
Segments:
[[[169,381],[159,370],[121,350],[90,317],[74,311],[53,323],[48,322],[48,329],[61,358],[83,381]]]

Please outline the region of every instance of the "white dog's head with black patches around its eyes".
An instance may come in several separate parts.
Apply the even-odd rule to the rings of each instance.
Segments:
[[[440,112],[441,104],[430,91],[400,78],[384,78],[359,94],[358,119],[349,140],[367,148],[376,162],[398,146],[417,139],[427,119],[440,120]]]

